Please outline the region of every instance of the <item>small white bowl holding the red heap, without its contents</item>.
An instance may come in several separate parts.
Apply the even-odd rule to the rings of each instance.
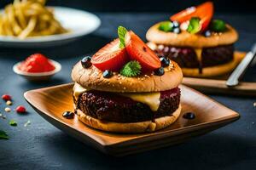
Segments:
[[[61,71],[61,64],[49,59],[50,62],[55,65],[55,70],[53,71],[47,71],[47,72],[37,72],[37,73],[32,73],[32,72],[26,72],[26,71],[20,71],[18,69],[18,65],[20,65],[21,62],[15,64],[13,66],[13,71],[15,71],[16,74],[20,75],[21,77],[25,77],[29,81],[46,81],[49,80],[50,77],[54,76],[57,72]]]

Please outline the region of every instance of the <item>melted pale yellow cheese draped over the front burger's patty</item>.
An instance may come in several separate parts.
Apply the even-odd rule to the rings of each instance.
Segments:
[[[90,89],[83,88],[79,83],[75,83],[73,86],[73,97],[77,100],[79,95]],[[151,111],[157,111],[160,105],[160,92],[154,93],[120,93],[119,95],[133,99],[134,101],[141,102],[149,106]]]

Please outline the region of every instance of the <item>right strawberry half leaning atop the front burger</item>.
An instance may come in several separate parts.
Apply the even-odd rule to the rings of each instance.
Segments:
[[[142,65],[143,71],[154,71],[160,68],[161,63],[158,56],[133,31],[127,32],[125,48],[129,57]]]

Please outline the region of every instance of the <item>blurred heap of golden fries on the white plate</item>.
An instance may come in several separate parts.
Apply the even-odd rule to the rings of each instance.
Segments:
[[[67,32],[44,5],[45,0],[14,0],[0,14],[0,35],[24,39]]]

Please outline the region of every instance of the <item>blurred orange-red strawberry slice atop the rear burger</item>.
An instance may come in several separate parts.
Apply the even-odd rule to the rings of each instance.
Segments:
[[[183,23],[187,20],[190,20],[192,17],[199,17],[201,19],[201,31],[205,31],[207,26],[209,26],[210,21],[212,20],[213,15],[213,3],[206,2],[201,3],[196,7],[189,7],[177,14],[173,14],[170,17],[170,20],[176,20],[179,23]]]

